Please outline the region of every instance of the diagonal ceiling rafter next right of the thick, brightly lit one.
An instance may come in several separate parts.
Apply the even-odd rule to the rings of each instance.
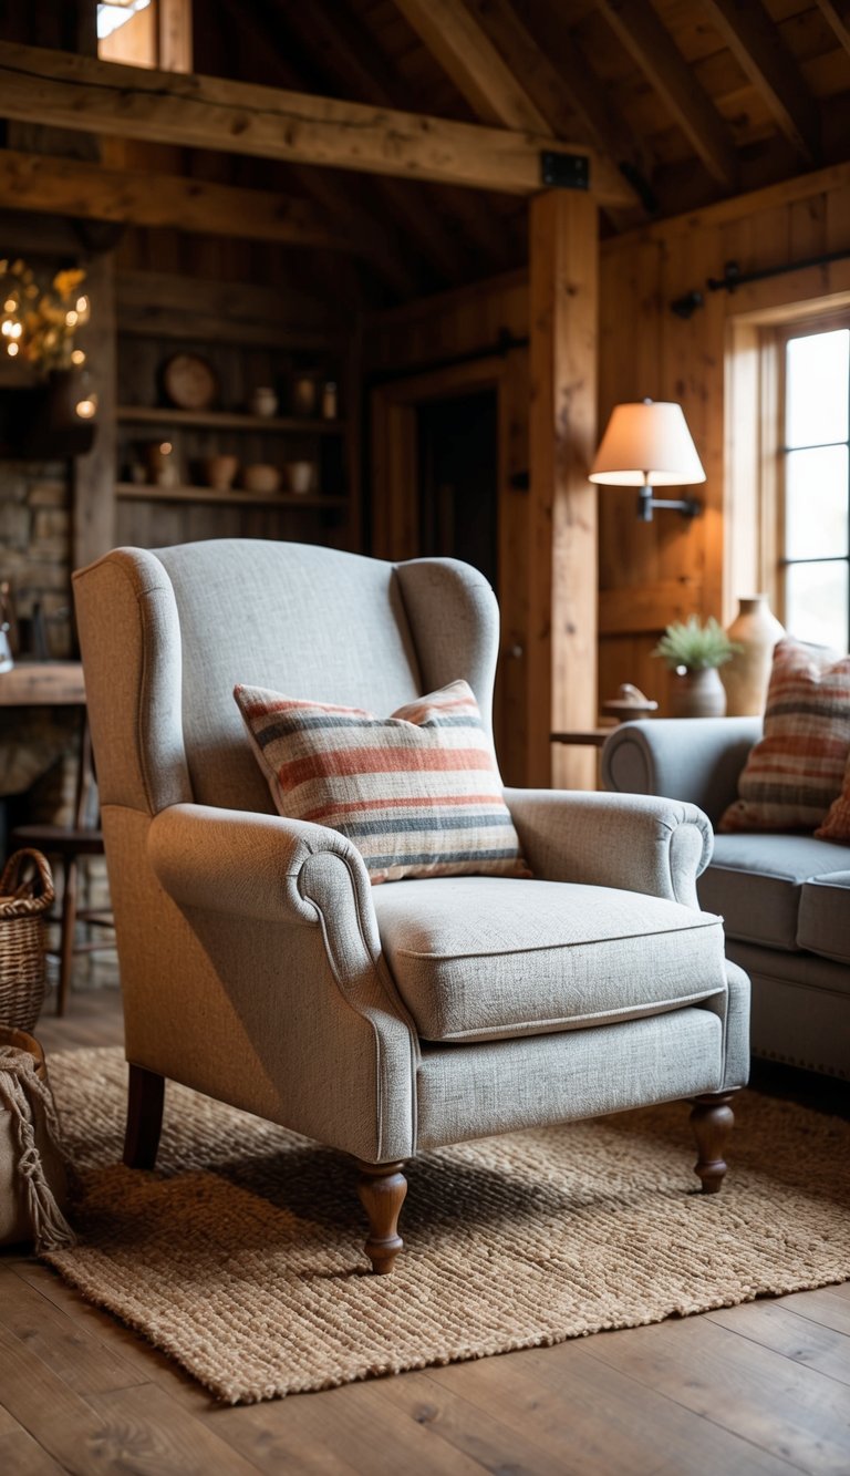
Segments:
[[[596,9],[664,100],[713,179],[728,190],[735,189],[738,156],[726,124],[695,83],[648,0],[596,0]]]

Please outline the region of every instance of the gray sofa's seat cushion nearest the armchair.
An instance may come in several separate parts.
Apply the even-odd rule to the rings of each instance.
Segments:
[[[729,937],[794,952],[803,884],[837,866],[850,868],[850,846],[812,835],[716,835],[697,883],[699,905],[720,914]]]

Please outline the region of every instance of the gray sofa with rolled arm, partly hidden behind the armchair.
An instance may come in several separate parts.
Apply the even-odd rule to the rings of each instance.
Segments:
[[[652,719],[614,729],[602,781],[689,800],[717,824],[761,735],[757,717]],[[753,980],[753,1054],[850,1079],[850,846],[806,834],[716,835],[699,903]]]

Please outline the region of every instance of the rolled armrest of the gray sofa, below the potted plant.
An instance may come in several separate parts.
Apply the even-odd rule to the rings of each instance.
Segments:
[[[654,717],[605,741],[602,782],[617,794],[689,800],[714,824],[738,797],[738,775],[761,737],[760,717]]]

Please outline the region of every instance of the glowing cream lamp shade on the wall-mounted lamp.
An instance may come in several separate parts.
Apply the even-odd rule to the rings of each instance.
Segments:
[[[668,400],[614,406],[589,477],[611,487],[705,481],[682,406]]]

